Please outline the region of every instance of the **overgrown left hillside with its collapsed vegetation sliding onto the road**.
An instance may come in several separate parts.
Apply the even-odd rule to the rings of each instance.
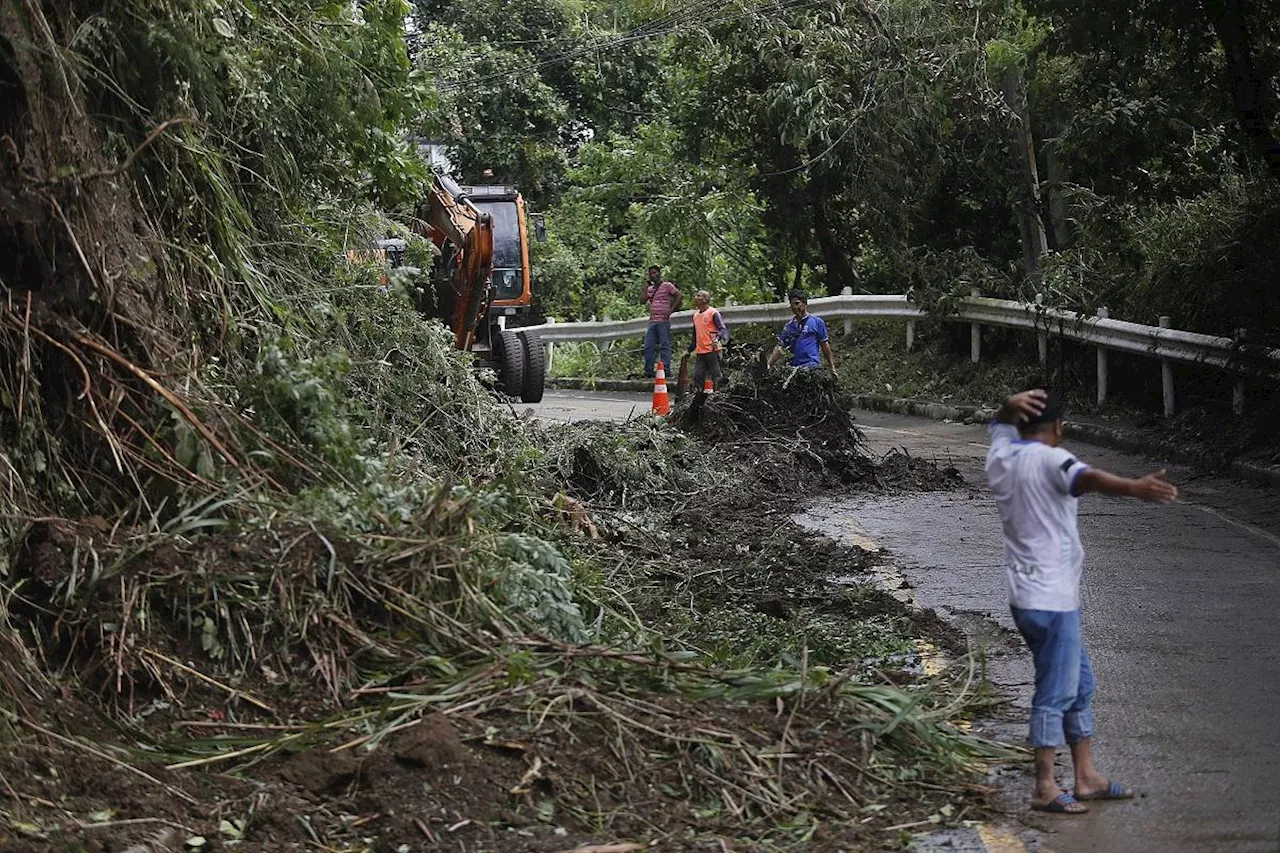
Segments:
[[[886,678],[910,615],[786,528],[803,484],[878,476],[852,432],[541,428],[412,280],[344,259],[419,174],[401,12],[0,13],[0,843],[878,849],[959,820],[996,752],[956,725],[970,674]]]

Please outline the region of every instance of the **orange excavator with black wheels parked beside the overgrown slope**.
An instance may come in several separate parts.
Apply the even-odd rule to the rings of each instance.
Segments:
[[[461,186],[435,175],[413,223],[439,248],[431,270],[435,298],[419,307],[453,330],[460,350],[493,368],[506,394],[540,402],[547,380],[541,341],[535,332],[507,328],[532,309],[525,228],[525,200],[515,187]],[[545,240],[540,219],[536,234]]]

